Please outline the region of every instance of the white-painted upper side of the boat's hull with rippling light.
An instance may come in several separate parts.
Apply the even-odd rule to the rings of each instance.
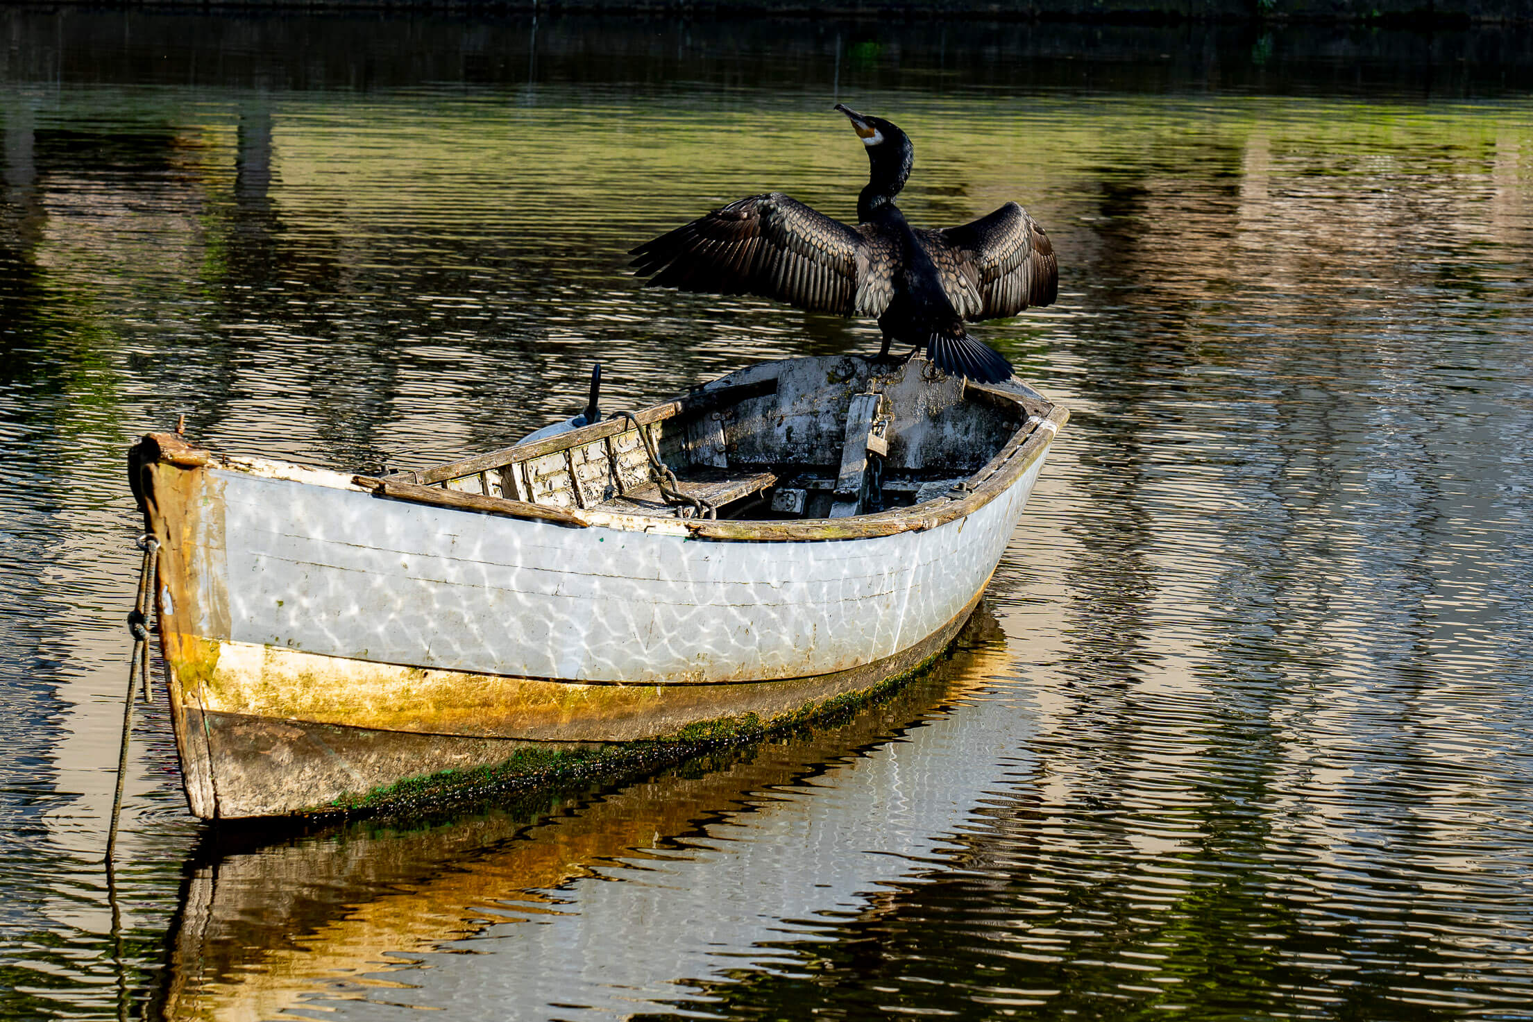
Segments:
[[[204,634],[569,682],[828,674],[898,653],[967,604],[1041,466],[931,530],[793,544],[567,529],[215,469],[224,521],[199,541],[222,572]]]

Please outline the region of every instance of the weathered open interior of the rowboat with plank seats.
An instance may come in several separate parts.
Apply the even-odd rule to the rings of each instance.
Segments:
[[[967,490],[1052,405],[924,359],[789,359],[514,447],[383,478],[546,509],[717,519],[848,518]],[[486,509],[487,510],[487,509]]]

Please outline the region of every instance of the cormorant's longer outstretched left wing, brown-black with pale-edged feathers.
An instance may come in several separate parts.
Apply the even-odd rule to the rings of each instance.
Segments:
[[[889,241],[779,192],[731,202],[629,254],[652,288],[759,294],[842,316],[881,316],[894,296]]]

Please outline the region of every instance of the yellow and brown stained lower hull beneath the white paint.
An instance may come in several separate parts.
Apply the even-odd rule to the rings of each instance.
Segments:
[[[622,755],[659,762],[667,749],[754,737],[868,697],[941,653],[978,601],[872,663],[714,685],[581,685],[166,636],[187,800],[202,818],[270,817]]]

